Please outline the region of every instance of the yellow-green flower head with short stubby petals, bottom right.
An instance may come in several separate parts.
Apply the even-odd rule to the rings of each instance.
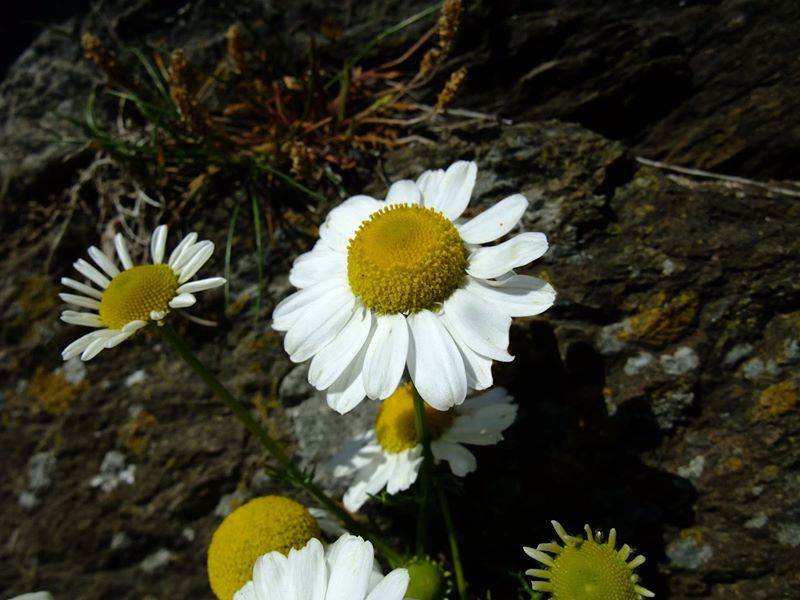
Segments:
[[[532,587],[547,592],[554,600],[641,600],[655,594],[638,584],[633,570],[644,562],[644,556],[631,559],[632,550],[625,544],[617,550],[617,532],[612,529],[604,541],[600,532],[584,526],[586,537],[568,535],[558,521],[553,529],[564,542],[539,544],[536,549],[524,548],[525,554],[539,561],[546,569],[528,569],[526,575],[538,577]],[[550,554],[546,554],[549,552]]]

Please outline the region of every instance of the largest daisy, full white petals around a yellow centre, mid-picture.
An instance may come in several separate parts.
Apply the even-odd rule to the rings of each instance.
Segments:
[[[460,218],[476,175],[462,161],[394,183],[385,200],[353,196],[295,260],[289,281],[299,291],[275,308],[273,327],[286,332],[292,361],[311,359],[308,380],[331,408],[389,397],[406,367],[428,404],[461,404],[468,387],[492,385],[493,360],[513,359],[511,318],[553,304],[548,283],[514,273],[545,253],[544,234],[483,245],[517,225],[525,196]]]

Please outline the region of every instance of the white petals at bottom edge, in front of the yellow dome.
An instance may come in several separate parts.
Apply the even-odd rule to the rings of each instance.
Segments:
[[[270,552],[256,561],[253,579],[233,600],[401,600],[408,571],[375,576],[372,544],[345,534],[324,550],[313,538],[288,556]]]

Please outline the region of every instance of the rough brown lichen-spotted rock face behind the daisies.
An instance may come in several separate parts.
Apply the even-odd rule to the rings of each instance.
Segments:
[[[342,13],[299,3],[298,29],[330,14],[346,37],[364,40],[414,10],[378,4]],[[532,566],[520,547],[551,539],[555,518],[569,531],[616,527],[647,556],[643,578],[660,598],[792,598],[800,188],[694,177],[636,155],[745,177],[796,173],[797,5],[542,6],[475,3],[462,38],[460,56],[473,65],[463,105],[524,122],[451,118],[424,132],[430,143],[382,164],[395,179],[474,159],[472,209],[522,191],[525,228],[551,243],[529,272],[552,281],[558,302],[515,321],[516,359],[494,369],[519,419],[503,444],[477,452],[477,473],[454,495],[472,592],[516,597],[508,573]],[[58,279],[105,231],[107,213],[85,190],[72,204],[63,191],[91,156],[65,163],[74,147],[35,131],[45,123],[72,132],[52,116],[80,110],[88,93],[76,42],[85,28],[106,23],[134,41],[166,27],[173,42],[220,43],[210,31],[219,36],[228,21],[216,6],[182,7],[100,5],[66,25],[72,38],[40,38],[0,87],[3,597],[49,589],[86,600],[211,598],[205,548],[221,516],[286,491],[157,337],[137,336],[86,365],[59,356],[78,329],[57,321]],[[538,120],[553,116],[583,127]],[[385,192],[378,177],[361,185]],[[175,229],[221,248],[234,201],[209,198],[197,222]],[[369,423],[374,405],[352,419],[323,410],[269,329],[269,311],[289,290],[286,269],[310,240],[276,232],[258,318],[247,299],[252,235],[242,227],[237,301],[226,313],[221,292],[204,294],[193,312],[219,326],[178,327],[299,458],[323,460]],[[221,266],[218,250],[205,271]],[[379,513],[398,534],[414,519],[402,507]]]

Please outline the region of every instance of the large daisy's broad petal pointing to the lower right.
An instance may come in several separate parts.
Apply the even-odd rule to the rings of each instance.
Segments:
[[[511,317],[491,304],[459,289],[445,301],[441,315],[447,329],[477,354],[509,362],[508,331]]]

